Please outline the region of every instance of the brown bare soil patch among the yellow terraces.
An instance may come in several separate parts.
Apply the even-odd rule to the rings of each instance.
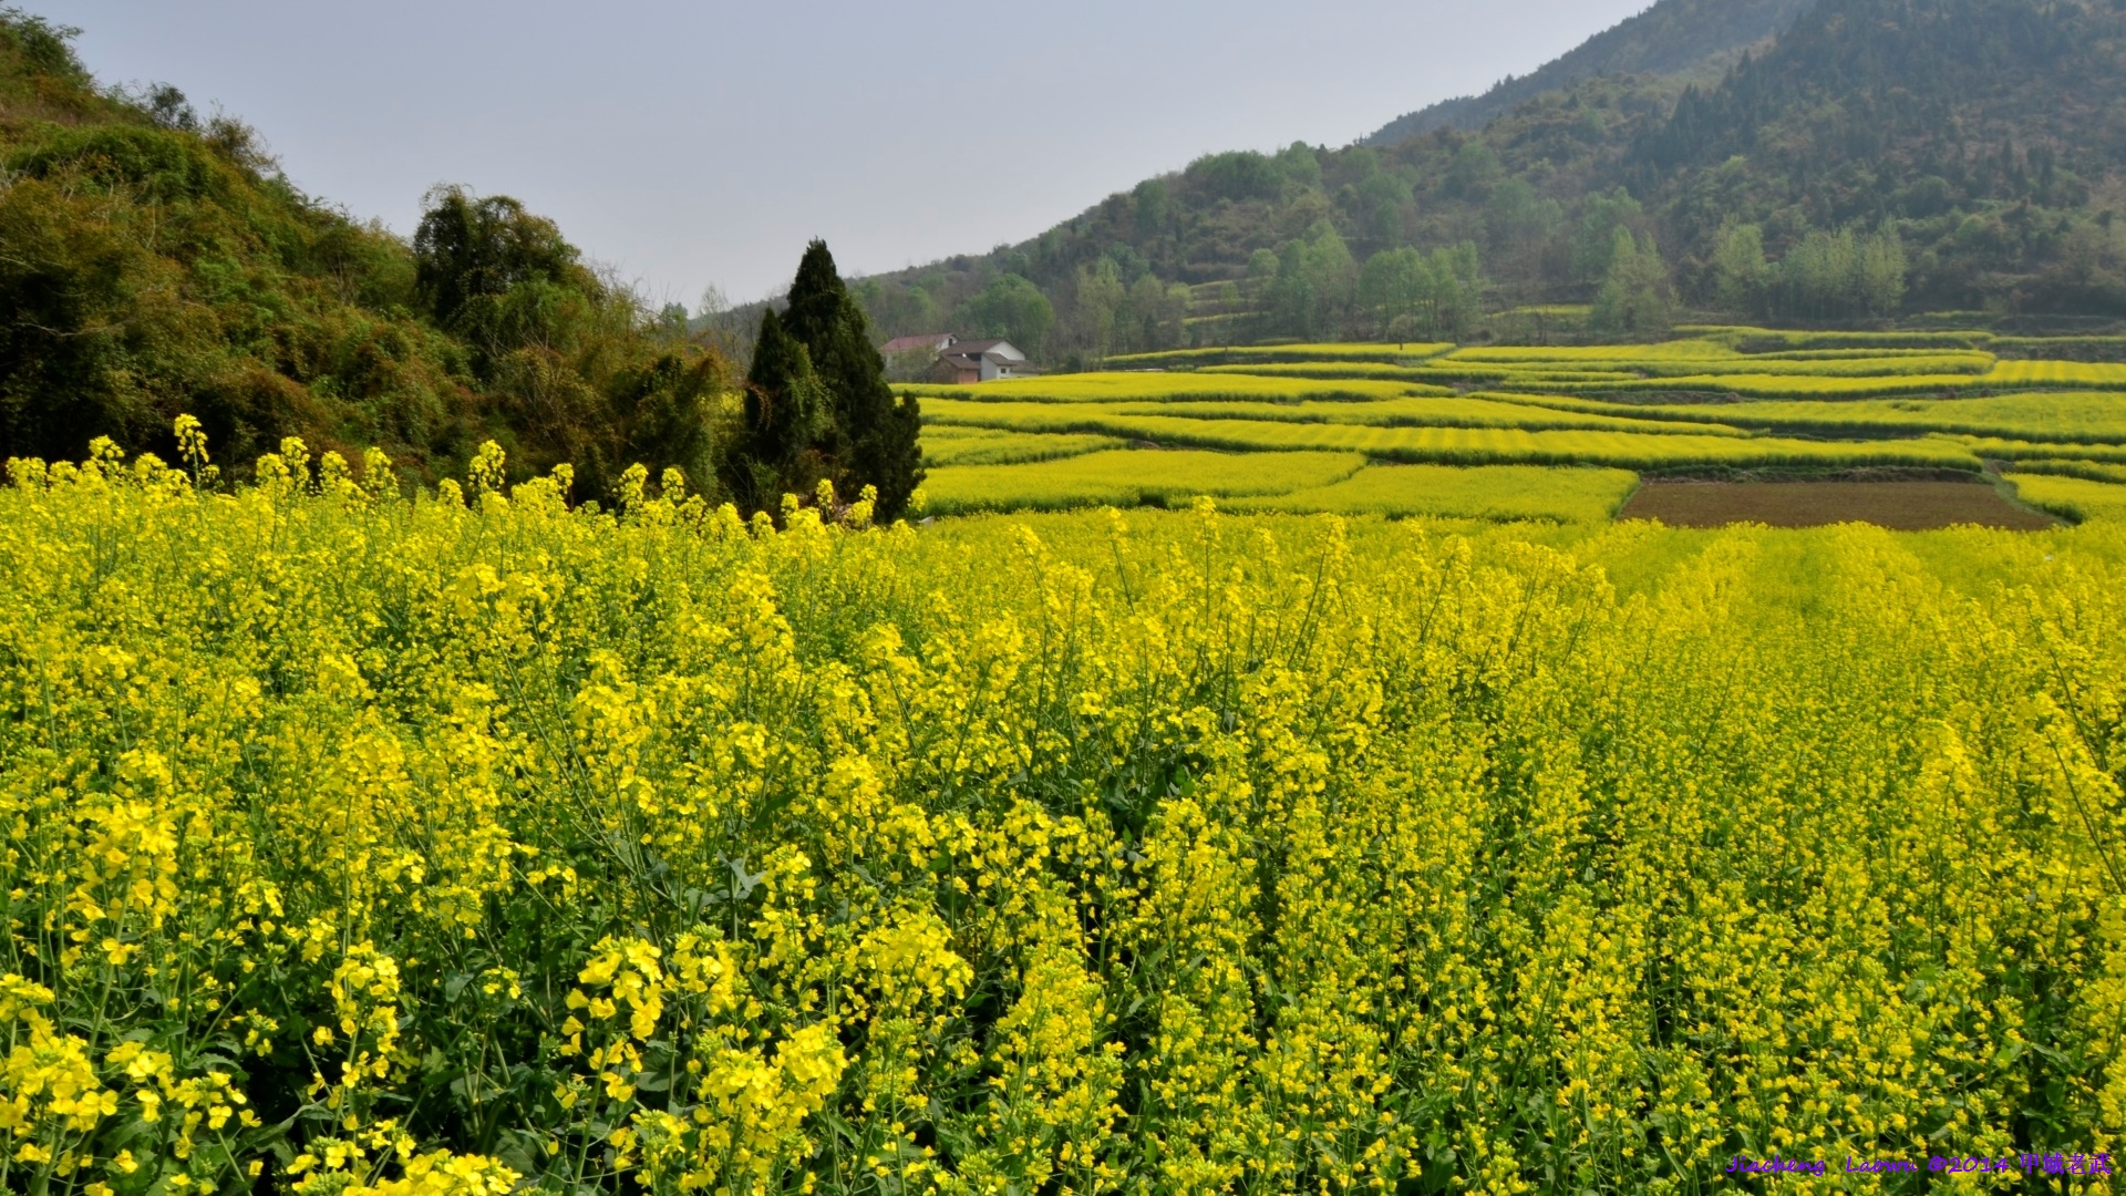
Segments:
[[[1875,524],[1896,532],[1960,524],[2011,532],[2058,526],[1969,481],[1650,481],[1618,519],[1660,519],[1671,528]]]

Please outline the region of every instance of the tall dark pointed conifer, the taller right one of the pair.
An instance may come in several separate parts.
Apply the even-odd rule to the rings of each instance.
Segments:
[[[914,396],[893,400],[887,362],[872,347],[870,321],[842,283],[825,240],[806,247],[782,326],[804,343],[829,394],[831,423],[821,428],[816,447],[831,462],[836,489],[857,496],[874,485],[878,519],[897,519],[923,483],[916,443],[923,417]]]

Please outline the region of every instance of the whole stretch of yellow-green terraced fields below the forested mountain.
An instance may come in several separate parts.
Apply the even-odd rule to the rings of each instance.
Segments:
[[[2126,358],[2126,343],[1686,332],[1658,345],[1188,349],[908,389],[923,398],[931,513],[1210,496],[1250,511],[1586,524],[1658,513],[1629,504],[1648,475],[1992,483],[1984,502],[1918,487],[1852,506],[1862,521],[1894,509],[1873,519],[1886,526],[2126,513],[2126,364],[2088,360]],[[1933,515],[1907,511],[1930,494]]]

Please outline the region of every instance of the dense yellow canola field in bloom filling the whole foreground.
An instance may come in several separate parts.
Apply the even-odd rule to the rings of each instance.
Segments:
[[[2120,1149],[2117,524],[880,530],[502,464],[11,464],[0,1187],[1924,1192]]]

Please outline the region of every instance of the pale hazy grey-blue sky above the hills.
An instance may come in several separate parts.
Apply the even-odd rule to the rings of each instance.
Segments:
[[[1348,145],[1650,0],[13,0],[400,232],[504,192],[659,300],[980,253],[1199,153]]]

